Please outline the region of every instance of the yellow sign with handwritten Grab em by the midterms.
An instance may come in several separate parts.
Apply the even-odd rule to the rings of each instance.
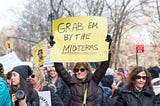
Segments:
[[[98,16],[60,18],[52,22],[54,62],[95,62],[108,59],[107,19]]]

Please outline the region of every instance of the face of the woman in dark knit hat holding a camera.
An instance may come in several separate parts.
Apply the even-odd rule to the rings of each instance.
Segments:
[[[20,75],[13,71],[11,76],[12,85],[20,85]]]

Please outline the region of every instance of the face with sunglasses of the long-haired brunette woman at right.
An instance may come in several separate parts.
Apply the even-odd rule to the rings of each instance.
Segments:
[[[137,74],[135,79],[135,87],[138,91],[141,91],[146,83],[146,73],[144,71]]]

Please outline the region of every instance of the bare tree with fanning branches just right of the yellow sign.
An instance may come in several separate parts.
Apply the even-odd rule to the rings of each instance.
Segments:
[[[105,3],[110,11],[109,33],[112,34],[113,38],[111,46],[113,54],[111,65],[117,69],[121,50],[121,40],[124,38],[127,31],[138,26],[135,20],[140,16],[140,3],[133,4],[131,0],[123,0],[121,2],[114,0],[112,3],[108,1]]]

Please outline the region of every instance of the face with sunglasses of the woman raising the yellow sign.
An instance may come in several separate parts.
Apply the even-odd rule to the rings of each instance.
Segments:
[[[74,71],[76,77],[84,81],[87,77],[88,71],[83,66],[80,66],[79,68],[76,68],[76,69],[79,69],[79,71]]]

